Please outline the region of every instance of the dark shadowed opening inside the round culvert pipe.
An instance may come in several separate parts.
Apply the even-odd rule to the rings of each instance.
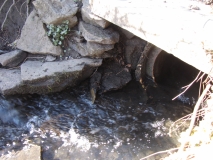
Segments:
[[[175,88],[180,88],[191,83],[198,72],[193,66],[165,51],[162,51],[156,58],[153,71],[157,84]],[[199,84],[196,86],[198,87]]]

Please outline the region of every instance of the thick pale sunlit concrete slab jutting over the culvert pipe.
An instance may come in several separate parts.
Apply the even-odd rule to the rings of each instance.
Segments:
[[[192,0],[89,0],[92,12],[213,75],[213,9]]]

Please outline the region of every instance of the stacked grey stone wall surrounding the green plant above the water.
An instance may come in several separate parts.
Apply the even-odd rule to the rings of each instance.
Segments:
[[[129,70],[115,59],[97,70],[103,58],[115,57],[116,52],[110,51],[119,42],[119,34],[108,21],[91,12],[88,0],[78,3],[73,0],[35,0],[33,5],[35,9],[28,16],[17,41],[19,50],[0,55],[3,66],[0,68],[1,94],[61,91],[77,85],[96,70],[91,78],[94,101],[97,91],[119,89],[131,80]],[[53,45],[47,36],[45,25],[58,25],[65,20],[69,20],[71,33],[67,36],[66,53],[63,53],[64,48]]]

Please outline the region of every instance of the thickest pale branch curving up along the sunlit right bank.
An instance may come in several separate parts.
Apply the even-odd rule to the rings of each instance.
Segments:
[[[201,102],[203,101],[203,99],[204,99],[206,93],[208,92],[208,90],[210,89],[210,87],[211,87],[210,84],[208,84],[208,85],[206,86],[205,90],[203,91],[203,93],[201,94],[200,98],[198,99],[198,101],[197,101],[197,103],[196,103],[196,105],[195,105],[195,108],[194,108],[194,111],[193,111],[193,114],[192,114],[192,118],[191,118],[191,122],[190,122],[190,125],[189,125],[189,128],[188,128],[188,131],[187,131],[186,136],[190,136],[190,134],[191,134],[191,131],[192,131],[193,126],[194,126],[194,123],[195,123],[197,110],[198,110],[198,108],[200,107],[200,104],[201,104]],[[187,139],[187,138],[186,138],[186,139]],[[183,142],[183,143],[181,144],[180,149],[179,149],[178,152],[182,152],[182,151],[184,150],[184,147],[185,147],[185,145],[186,145],[187,142],[188,142],[188,141],[186,140],[185,142]]]

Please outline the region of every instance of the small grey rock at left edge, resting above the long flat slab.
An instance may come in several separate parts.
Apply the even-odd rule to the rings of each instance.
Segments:
[[[27,56],[26,52],[22,50],[15,50],[0,55],[0,63],[6,67],[16,67],[19,65]]]

